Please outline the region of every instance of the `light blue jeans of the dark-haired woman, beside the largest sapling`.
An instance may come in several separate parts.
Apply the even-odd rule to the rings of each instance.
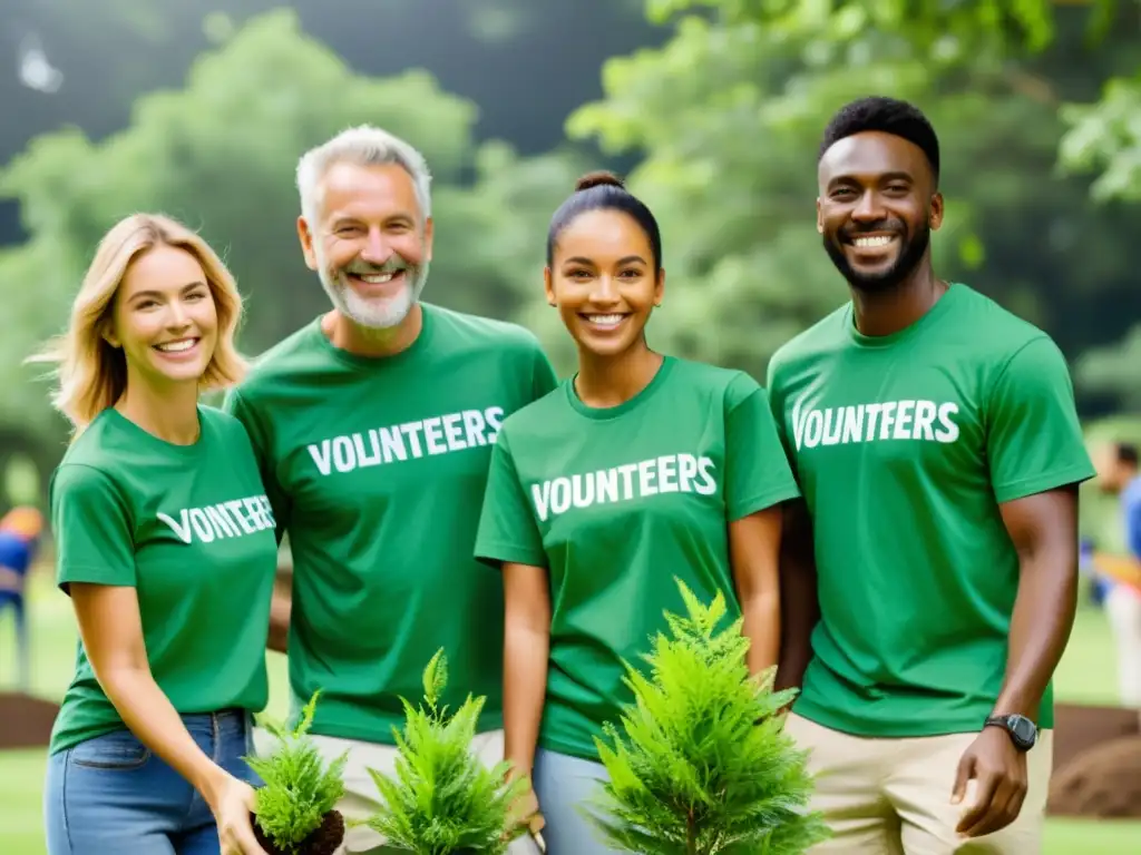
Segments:
[[[543,828],[547,855],[622,855],[601,842],[599,832],[582,815],[582,811],[598,812],[591,800],[598,798],[601,782],[608,780],[600,763],[545,748],[535,752],[532,783],[539,809],[547,820]]]

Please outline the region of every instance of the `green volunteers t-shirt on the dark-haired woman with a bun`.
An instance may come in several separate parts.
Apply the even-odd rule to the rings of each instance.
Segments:
[[[633,697],[674,577],[739,617],[728,523],[798,494],[768,398],[741,372],[666,357],[639,394],[585,406],[573,381],[508,418],[476,554],[547,569],[550,662],[540,743],[597,759],[593,736]]]

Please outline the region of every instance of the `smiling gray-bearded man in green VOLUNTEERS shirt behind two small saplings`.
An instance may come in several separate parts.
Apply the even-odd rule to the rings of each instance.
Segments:
[[[503,589],[472,557],[488,462],[503,420],[556,385],[521,327],[420,302],[432,254],[429,173],[407,142],[347,130],[297,172],[298,233],[332,310],[273,348],[227,399],[260,456],[293,556],[288,653],[294,714],[316,690],[313,733],[349,752],[348,819],[391,773],[400,698],[443,648],[456,709],[487,698],[472,751],[502,759]],[[381,838],[350,829],[346,852]],[[523,849],[526,852],[526,849]],[[515,852],[512,849],[512,852]]]

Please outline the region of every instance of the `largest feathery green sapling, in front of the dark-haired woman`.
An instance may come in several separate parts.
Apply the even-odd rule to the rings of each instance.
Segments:
[[[721,594],[704,605],[677,580],[687,617],[666,613],[642,674],[626,662],[634,702],[620,733],[596,739],[610,781],[584,813],[612,847],[640,855],[800,855],[828,837],[808,811],[806,752],[776,714],[776,669],[751,677],[742,619],[718,632]]]

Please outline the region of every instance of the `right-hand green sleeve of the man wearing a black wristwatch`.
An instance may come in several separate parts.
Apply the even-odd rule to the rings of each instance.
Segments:
[[[1066,358],[1042,336],[1003,367],[988,399],[987,457],[1000,503],[1094,475]]]

